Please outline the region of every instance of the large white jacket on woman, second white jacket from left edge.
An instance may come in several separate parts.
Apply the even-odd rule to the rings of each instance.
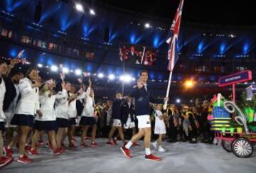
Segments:
[[[36,115],[36,111],[40,109],[39,89],[32,88],[32,82],[28,78],[21,79],[18,84],[21,99],[18,101],[15,114]]]

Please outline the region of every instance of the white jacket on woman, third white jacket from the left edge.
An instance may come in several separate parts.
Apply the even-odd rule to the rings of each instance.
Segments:
[[[55,121],[55,111],[54,111],[54,103],[56,95],[48,96],[50,91],[46,91],[43,95],[39,96],[39,102],[41,104],[40,110],[43,116],[40,118],[38,115],[36,116],[37,121]]]

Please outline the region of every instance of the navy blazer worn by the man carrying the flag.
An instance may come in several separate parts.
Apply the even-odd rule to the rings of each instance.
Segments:
[[[146,91],[145,86],[141,89],[134,86],[130,95],[135,98],[135,115],[150,115],[149,102],[154,103],[155,99],[149,94],[149,89]]]

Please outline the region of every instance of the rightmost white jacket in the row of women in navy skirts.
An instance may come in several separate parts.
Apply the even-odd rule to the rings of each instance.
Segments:
[[[85,98],[85,107],[82,109],[82,116],[93,117],[94,116],[94,99],[90,96],[90,87],[87,91],[81,95]]]

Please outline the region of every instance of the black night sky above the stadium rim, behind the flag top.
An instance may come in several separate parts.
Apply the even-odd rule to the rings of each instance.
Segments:
[[[144,13],[147,16],[172,20],[178,0],[117,1],[92,0],[92,4],[114,6],[120,9]],[[251,0],[185,0],[182,20],[194,23],[256,26],[256,1]]]

